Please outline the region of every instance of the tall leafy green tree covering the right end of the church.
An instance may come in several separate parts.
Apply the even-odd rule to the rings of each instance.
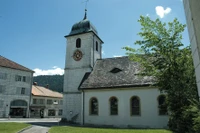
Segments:
[[[169,128],[177,133],[193,132],[193,119],[188,118],[186,108],[196,106],[198,99],[196,79],[190,46],[182,44],[185,25],[177,19],[162,23],[141,16],[138,20],[141,40],[135,42],[140,49],[125,47],[131,60],[139,62],[145,76],[153,76],[155,85],[167,94]],[[186,116],[186,117],[183,117]],[[186,120],[192,122],[189,125]]]

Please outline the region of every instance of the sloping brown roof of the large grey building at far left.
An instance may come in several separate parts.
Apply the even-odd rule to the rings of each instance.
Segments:
[[[22,70],[22,71],[28,71],[28,72],[34,72],[31,69],[28,69],[14,61],[11,61],[3,56],[0,55],[0,66],[1,67],[7,67],[11,69],[17,69],[17,70]]]

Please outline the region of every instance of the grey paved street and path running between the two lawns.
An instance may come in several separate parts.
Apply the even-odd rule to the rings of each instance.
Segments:
[[[0,118],[0,122],[28,123],[32,126],[18,133],[48,133],[51,126],[58,126],[60,118]]]

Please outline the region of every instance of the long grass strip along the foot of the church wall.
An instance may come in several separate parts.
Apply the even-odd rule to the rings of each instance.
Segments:
[[[49,133],[172,133],[168,130],[140,130],[140,129],[106,129],[58,126],[52,127]]]

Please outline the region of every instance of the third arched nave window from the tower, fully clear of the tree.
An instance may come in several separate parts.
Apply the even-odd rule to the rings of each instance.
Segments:
[[[136,96],[131,98],[131,115],[140,115],[140,99]]]

